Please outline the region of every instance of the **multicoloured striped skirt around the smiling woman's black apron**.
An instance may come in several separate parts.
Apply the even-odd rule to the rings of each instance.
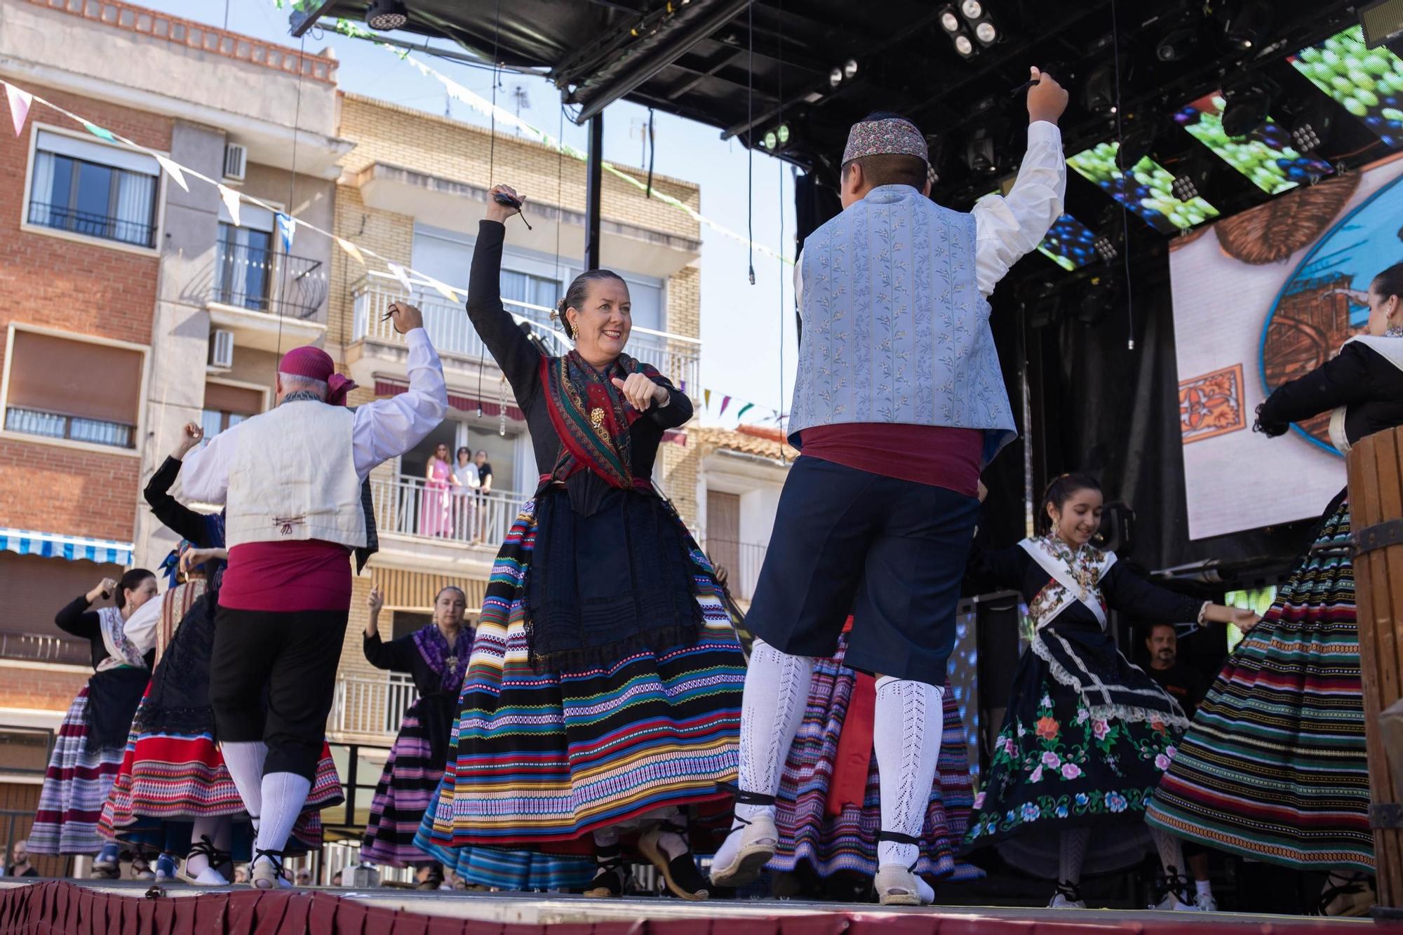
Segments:
[[[535,533],[528,503],[492,567],[421,848],[574,841],[668,806],[724,802],[721,783],[735,781],[745,660],[706,556],[692,555],[696,642],[537,672],[523,605]]]

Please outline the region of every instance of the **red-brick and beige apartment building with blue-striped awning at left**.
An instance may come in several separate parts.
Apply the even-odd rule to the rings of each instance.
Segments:
[[[0,4],[0,76],[324,227],[349,150],[335,69],[118,0]],[[289,250],[272,212],[246,204],[236,226],[188,185],[41,104],[0,133],[0,844],[27,833],[91,671],[55,611],[156,567],[174,538],[142,487],[180,427],[262,411],[279,350],[325,336],[330,244]]]

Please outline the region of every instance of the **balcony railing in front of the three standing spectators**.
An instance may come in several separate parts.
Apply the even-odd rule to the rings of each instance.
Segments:
[[[526,496],[463,487],[429,487],[424,477],[372,477],[375,525],[380,532],[497,549]]]

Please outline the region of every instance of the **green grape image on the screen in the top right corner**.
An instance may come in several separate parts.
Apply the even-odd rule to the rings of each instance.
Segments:
[[[1403,146],[1403,59],[1382,45],[1365,48],[1360,27],[1301,49],[1291,65],[1364,121],[1385,146]]]

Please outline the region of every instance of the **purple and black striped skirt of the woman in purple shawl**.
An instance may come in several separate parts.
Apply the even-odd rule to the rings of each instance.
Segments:
[[[361,859],[390,866],[431,863],[432,858],[414,847],[424,811],[434,802],[443,765],[434,762],[434,748],[419,723],[419,703],[404,712],[400,733],[384,761],[380,782],[370,803]]]

